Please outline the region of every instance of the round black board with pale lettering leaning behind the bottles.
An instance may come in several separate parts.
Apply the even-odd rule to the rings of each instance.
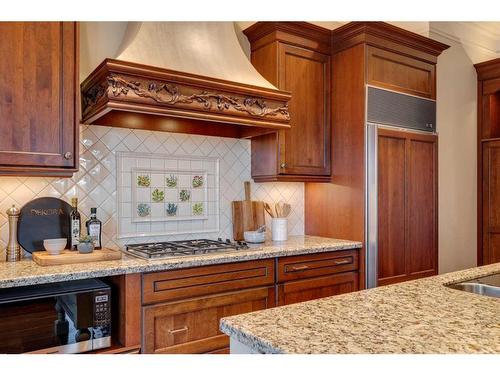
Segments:
[[[17,227],[19,244],[32,253],[43,250],[46,238],[67,238],[69,243],[70,212],[71,206],[58,198],[37,198],[26,203]]]

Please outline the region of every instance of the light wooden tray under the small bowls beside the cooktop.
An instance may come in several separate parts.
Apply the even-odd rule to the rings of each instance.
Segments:
[[[63,250],[59,255],[50,255],[46,251],[33,252],[33,260],[39,266],[57,266],[62,264],[100,262],[103,260],[118,260],[122,257],[119,250],[102,248],[90,254],[80,254],[78,251]]]

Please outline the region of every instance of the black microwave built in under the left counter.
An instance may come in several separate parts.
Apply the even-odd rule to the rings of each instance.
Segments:
[[[101,280],[0,289],[0,353],[84,353],[111,346],[111,288]]]

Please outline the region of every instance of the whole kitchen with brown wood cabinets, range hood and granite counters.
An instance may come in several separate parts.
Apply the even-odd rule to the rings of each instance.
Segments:
[[[1,353],[500,353],[498,24],[257,19],[0,23]]]

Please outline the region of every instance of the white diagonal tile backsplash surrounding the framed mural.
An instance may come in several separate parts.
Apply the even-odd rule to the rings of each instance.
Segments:
[[[67,202],[79,198],[82,221],[91,207],[98,207],[103,221],[103,243],[118,248],[141,238],[116,239],[116,161],[115,152],[151,152],[176,156],[210,156],[220,159],[220,230],[209,238],[232,238],[231,201],[244,198],[243,182],[250,180],[250,141],[244,139],[130,130],[105,126],[80,126],[80,170],[72,178],[0,176],[0,252],[8,241],[6,210],[21,207],[40,197],[57,197]],[[304,184],[252,183],[253,199],[275,203],[284,200],[292,205],[289,233],[304,234]],[[269,218],[266,215],[266,221]],[[267,223],[270,228],[270,222]],[[148,238],[176,240],[200,235],[177,235]],[[0,260],[4,259],[3,253]]]

